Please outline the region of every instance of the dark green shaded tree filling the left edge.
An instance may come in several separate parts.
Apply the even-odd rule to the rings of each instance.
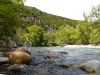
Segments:
[[[18,2],[20,2],[19,0]],[[22,25],[16,14],[17,2],[0,0],[0,45],[8,46],[9,38],[16,34],[16,29]]]

